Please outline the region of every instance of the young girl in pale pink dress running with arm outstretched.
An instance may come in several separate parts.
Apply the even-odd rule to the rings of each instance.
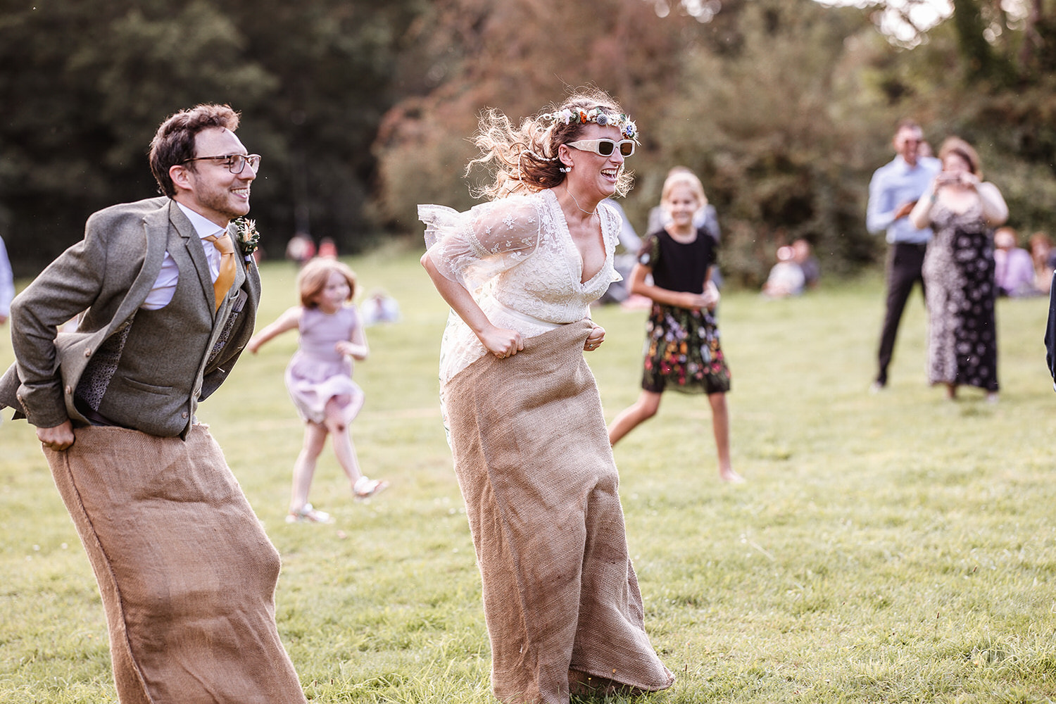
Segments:
[[[388,487],[359,471],[348,424],[363,406],[363,392],[352,380],[352,359],[366,359],[370,348],[356,306],[356,274],[337,260],[315,259],[297,275],[301,305],[294,306],[253,336],[246,345],[257,354],[271,338],[300,330],[300,348],[286,367],[286,388],[304,419],[304,446],[294,464],[294,489],[288,522],[329,522],[329,514],[308,503],[308,489],[327,433],[334,454],[352,482],[356,498],[366,498]]]

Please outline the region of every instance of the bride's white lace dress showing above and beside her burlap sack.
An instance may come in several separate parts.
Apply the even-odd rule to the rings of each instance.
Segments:
[[[583,260],[550,190],[512,195],[466,212],[418,206],[429,256],[437,269],[464,285],[492,324],[524,338],[588,316],[590,303],[621,279],[612,268],[620,216],[604,204],[598,213],[605,263],[583,282]],[[486,353],[452,311],[440,349],[440,382]]]

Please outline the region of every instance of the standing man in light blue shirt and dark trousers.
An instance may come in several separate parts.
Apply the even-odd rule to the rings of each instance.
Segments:
[[[894,353],[894,339],[906,301],[920,282],[924,293],[921,267],[924,250],[931,239],[930,228],[918,230],[907,215],[917,205],[942,164],[931,156],[921,156],[924,135],[912,120],[903,120],[894,133],[894,159],[876,169],[869,182],[869,206],[866,227],[874,234],[886,231],[890,245],[887,253],[887,312],[880,336],[879,370],[873,391],[887,385],[887,367]]]

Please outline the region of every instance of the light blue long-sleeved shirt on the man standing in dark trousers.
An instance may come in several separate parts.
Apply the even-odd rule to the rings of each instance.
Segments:
[[[866,228],[873,234],[886,230],[891,244],[924,244],[930,240],[931,228],[918,230],[908,217],[894,220],[894,213],[903,204],[917,201],[941,169],[942,161],[934,156],[922,156],[911,167],[901,155],[876,169],[869,182]]]

